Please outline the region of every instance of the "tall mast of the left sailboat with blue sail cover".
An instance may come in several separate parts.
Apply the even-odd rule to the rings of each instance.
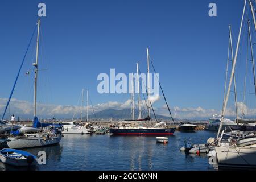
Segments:
[[[34,117],[36,117],[36,93],[38,90],[38,55],[39,55],[39,30],[40,30],[40,19],[38,19],[38,36],[36,38],[36,62],[33,63],[35,67],[35,85],[34,85]]]

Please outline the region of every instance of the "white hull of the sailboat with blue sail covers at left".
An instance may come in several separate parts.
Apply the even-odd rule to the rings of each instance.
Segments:
[[[60,143],[61,136],[53,137],[51,139],[36,139],[36,138],[15,138],[9,137],[7,145],[9,148],[31,148],[31,147],[42,147],[49,146],[52,144]]]

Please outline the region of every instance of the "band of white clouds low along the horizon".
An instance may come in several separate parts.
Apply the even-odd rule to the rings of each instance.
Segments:
[[[156,101],[160,100],[160,96],[154,96],[151,97],[151,102],[154,103]],[[2,115],[3,110],[5,109],[7,99],[6,98],[0,98],[0,115]],[[144,101],[142,101],[142,104],[144,104]],[[98,111],[104,110],[104,109],[127,109],[131,107],[131,99],[125,101],[125,102],[117,102],[117,101],[109,101],[101,104],[94,105],[94,111],[97,113]],[[247,117],[255,116],[256,115],[256,109],[250,109],[246,105],[244,105],[242,102],[237,103],[238,107],[238,114],[242,114],[242,110],[244,110],[244,113]],[[143,107],[142,107],[143,108]],[[146,108],[146,107],[144,107]],[[155,108],[156,114],[160,115],[166,115],[169,116],[168,109],[166,105],[163,105],[162,107]],[[73,114],[76,113],[75,117],[80,117],[80,112],[82,110],[82,113],[86,113],[86,106],[73,106],[73,105],[53,105],[53,104],[42,104],[38,103],[38,115],[40,117],[46,118],[46,117],[52,117],[52,115],[58,115],[59,118],[72,118]],[[92,106],[88,106],[88,112],[89,114],[93,113]],[[204,109],[203,107],[184,107],[181,108],[179,106],[171,107],[172,115],[175,118],[182,118],[182,119],[207,119],[212,117],[213,114],[220,114],[221,110],[216,109]],[[7,110],[6,117],[9,116],[9,109]],[[13,98],[10,102],[10,114],[15,115],[27,115],[32,117],[34,113],[34,107],[31,102],[28,101],[22,101],[17,100]],[[236,112],[234,108],[227,108],[226,109],[226,117],[232,117],[234,118],[236,116]]]

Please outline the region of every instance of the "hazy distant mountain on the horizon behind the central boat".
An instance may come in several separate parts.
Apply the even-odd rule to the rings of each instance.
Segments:
[[[131,119],[131,109],[105,109],[102,111],[99,111],[98,113],[95,113],[97,119]],[[138,118],[139,110],[135,109],[134,112],[135,118]],[[147,117],[147,113],[144,113],[144,118]],[[95,119],[94,114],[91,114],[88,116],[88,118]],[[154,114],[152,113],[151,118],[154,119]],[[164,119],[170,121],[170,117],[166,117],[164,115],[156,114],[157,119]],[[175,118],[175,121],[189,121],[188,119],[177,119]]]

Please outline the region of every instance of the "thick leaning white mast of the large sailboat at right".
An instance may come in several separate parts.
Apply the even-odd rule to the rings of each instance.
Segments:
[[[245,15],[246,1],[247,0],[245,0],[245,5],[243,6],[243,14],[242,14],[242,20],[241,20],[241,25],[240,25],[240,31],[239,31],[238,39],[237,39],[236,53],[235,53],[235,57],[234,57],[232,72],[231,72],[231,75],[230,75],[228,92],[227,92],[227,95],[226,95],[226,98],[225,98],[224,107],[222,108],[221,123],[220,123],[220,126],[218,128],[217,139],[220,136],[220,131],[221,131],[221,128],[222,128],[222,123],[224,122],[224,115],[225,115],[225,111],[226,111],[226,105],[228,104],[229,92],[230,92],[230,88],[231,88],[231,84],[232,84],[233,76],[234,76],[234,69],[236,68],[237,54],[238,54],[238,48],[239,48],[239,44],[240,44],[241,31],[242,31],[242,26],[243,26],[243,16]],[[220,141],[219,141],[218,144],[220,144]]]

